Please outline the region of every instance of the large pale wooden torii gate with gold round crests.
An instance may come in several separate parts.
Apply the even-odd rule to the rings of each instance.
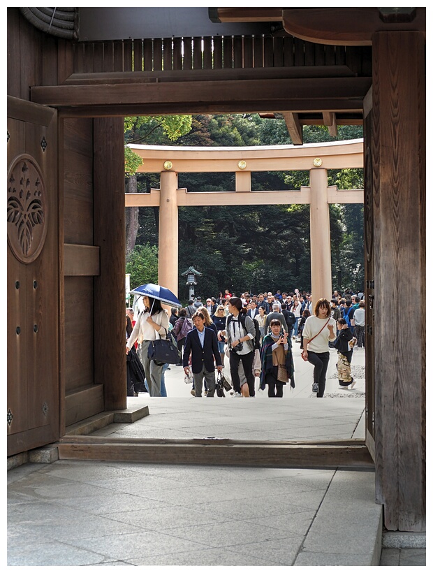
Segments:
[[[177,294],[178,215],[185,205],[310,205],[311,294],[332,293],[330,203],[364,203],[363,189],[328,187],[328,169],[362,168],[363,140],[311,143],[296,147],[173,147],[129,145],[140,155],[139,173],[161,173],[161,189],[126,193],[126,207],[159,207],[158,280]],[[255,171],[307,171],[309,187],[300,191],[251,191]],[[235,189],[188,192],[178,189],[178,173],[235,173]]]

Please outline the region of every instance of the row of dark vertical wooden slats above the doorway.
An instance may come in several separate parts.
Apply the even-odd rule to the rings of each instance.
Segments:
[[[74,73],[344,65],[359,75],[369,75],[371,49],[265,35],[146,38],[74,45]]]

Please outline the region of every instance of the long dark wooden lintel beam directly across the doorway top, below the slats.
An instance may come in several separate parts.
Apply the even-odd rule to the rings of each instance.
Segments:
[[[371,78],[60,85],[31,88],[31,100],[56,108],[85,107],[95,115],[242,113],[260,110],[362,110]]]

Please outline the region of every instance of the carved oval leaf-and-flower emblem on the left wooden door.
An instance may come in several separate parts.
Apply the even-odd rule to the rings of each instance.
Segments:
[[[45,193],[41,169],[33,157],[15,157],[8,171],[8,243],[22,263],[32,263],[45,242]]]

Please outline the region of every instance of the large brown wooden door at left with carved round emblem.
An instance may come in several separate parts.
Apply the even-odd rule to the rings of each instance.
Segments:
[[[57,111],[8,97],[8,456],[59,437]]]

